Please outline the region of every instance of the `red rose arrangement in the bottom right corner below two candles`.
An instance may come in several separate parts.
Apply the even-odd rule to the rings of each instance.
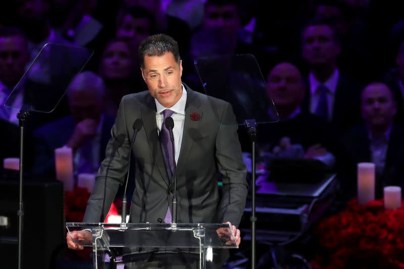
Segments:
[[[404,202],[385,210],[383,200],[347,208],[320,222],[313,268],[404,268]]]

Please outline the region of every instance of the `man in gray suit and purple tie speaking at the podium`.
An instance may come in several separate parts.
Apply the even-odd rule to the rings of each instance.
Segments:
[[[248,185],[231,105],[192,91],[181,82],[182,61],[177,42],[171,37],[149,36],[138,52],[149,91],[122,98],[83,222],[104,221],[119,185],[124,183],[132,126],[138,119],[143,128],[132,148],[136,173],[129,222],[170,222],[174,182],[166,165],[164,145],[159,141],[169,109],[175,123],[178,223],[229,222],[238,245],[240,231],[236,226],[243,213]],[[218,172],[223,177],[221,197]],[[75,239],[88,236],[86,231],[72,233]],[[72,237],[67,235],[69,248],[82,249]]]

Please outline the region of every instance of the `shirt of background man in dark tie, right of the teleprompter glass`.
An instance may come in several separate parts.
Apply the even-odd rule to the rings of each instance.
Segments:
[[[313,73],[309,74],[309,83],[310,83],[310,112],[316,114],[317,105],[319,102],[320,92],[317,90],[320,85],[324,85],[328,88],[327,92],[327,104],[328,104],[328,120],[332,119],[332,111],[334,108],[334,99],[335,99],[335,92],[337,90],[339,79],[339,71],[335,69],[334,73],[331,77],[321,83],[317,80]]]

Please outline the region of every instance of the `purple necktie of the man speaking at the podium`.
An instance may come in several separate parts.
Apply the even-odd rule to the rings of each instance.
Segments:
[[[173,115],[173,111],[171,110],[165,110],[163,111],[163,124],[161,126],[161,131],[160,131],[160,145],[161,149],[163,151],[163,156],[164,156],[164,163],[166,164],[166,170],[167,170],[167,175],[168,179],[171,181],[171,177],[174,174],[174,158],[173,158],[173,144],[170,140],[170,131],[166,128],[166,119],[168,117],[171,117]],[[171,210],[170,210],[170,205],[167,208],[167,213],[166,217],[164,218],[165,223],[171,223]]]

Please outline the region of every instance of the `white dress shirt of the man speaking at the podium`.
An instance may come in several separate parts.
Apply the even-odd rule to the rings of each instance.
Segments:
[[[155,98],[156,102],[156,123],[157,129],[159,130],[159,135],[161,131],[161,127],[163,124],[164,116],[163,111],[168,109],[164,107],[159,101]],[[174,150],[175,150],[175,163],[178,162],[178,157],[180,156],[180,149],[182,143],[182,133],[184,131],[184,122],[185,122],[185,104],[186,104],[186,90],[184,85],[182,85],[182,95],[181,98],[169,108],[169,110],[173,111],[173,118],[174,121],[174,128],[173,128],[173,135],[174,135]]]

